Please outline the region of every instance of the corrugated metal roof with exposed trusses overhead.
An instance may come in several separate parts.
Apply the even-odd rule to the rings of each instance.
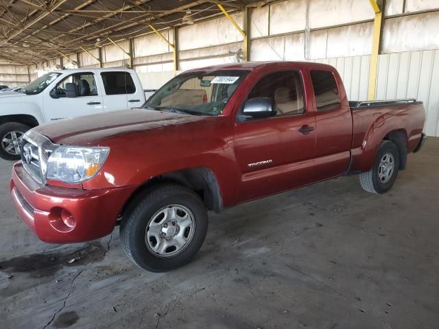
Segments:
[[[33,64],[108,43],[233,12],[254,0],[0,0],[0,58]],[[99,41],[98,41],[99,40]],[[84,48],[84,49],[83,49]]]

